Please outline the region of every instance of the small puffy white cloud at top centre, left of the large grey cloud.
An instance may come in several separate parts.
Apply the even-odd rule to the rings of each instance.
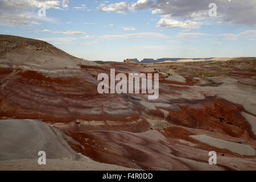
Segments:
[[[125,11],[129,11],[130,6],[129,3],[126,1],[113,3],[108,6],[105,4],[101,4],[97,7],[98,11],[105,11],[105,12],[114,12],[114,13],[124,13]]]

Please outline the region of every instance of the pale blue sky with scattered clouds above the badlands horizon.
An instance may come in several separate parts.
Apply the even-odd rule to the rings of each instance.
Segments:
[[[0,0],[0,34],[93,61],[256,56],[256,1]]]

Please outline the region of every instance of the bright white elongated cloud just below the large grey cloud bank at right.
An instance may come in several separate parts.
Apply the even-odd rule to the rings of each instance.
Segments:
[[[192,29],[192,28],[200,28],[202,22],[192,22],[191,20],[187,20],[185,22],[181,22],[179,20],[174,20],[174,19],[166,19],[166,18],[161,18],[158,22],[158,26],[156,27],[165,27],[165,28],[187,28],[187,29]]]

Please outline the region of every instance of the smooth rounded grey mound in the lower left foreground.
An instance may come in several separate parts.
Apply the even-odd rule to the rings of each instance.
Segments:
[[[0,160],[39,158],[39,151],[45,151],[48,159],[79,158],[62,135],[38,120],[0,120]]]

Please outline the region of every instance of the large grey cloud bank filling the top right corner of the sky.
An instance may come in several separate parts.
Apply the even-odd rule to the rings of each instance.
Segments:
[[[162,15],[172,14],[172,18],[185,18],[202,20],[209,19],[208,5],[212,0],[157,0],[154,5],[148,8],[154,8],[152,14],[160,13]],[[256,1],[241,0],[215,0],[217,5],[218,22],[233,23],[239,25],[253,26],[256,24]]]

